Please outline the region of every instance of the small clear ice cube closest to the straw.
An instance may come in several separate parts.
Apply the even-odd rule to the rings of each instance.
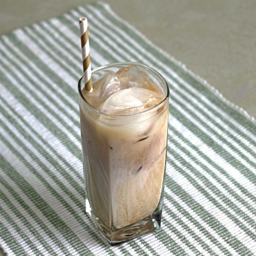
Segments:
[[[102,78],[93,85],[98,88],[98,97],[100,100],[108,98],[121,88],[119,79],[113,71],[102,76]]]

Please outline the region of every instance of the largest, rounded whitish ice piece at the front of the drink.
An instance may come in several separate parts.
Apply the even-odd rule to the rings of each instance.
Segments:
[[[145,88],[128,88],[109,96],[100,111],[109,115],[129,115],[152,108],[162,99],[162,95]]]

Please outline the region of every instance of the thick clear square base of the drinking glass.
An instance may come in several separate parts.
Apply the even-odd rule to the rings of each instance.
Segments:
[[[151,233],[154,230],[158,230],[160,228],[162,207],[157,207],[157,209],[151,215],[144,218],[143,220],[120,229],[111,229],[107,227],[93,212],[87,198],[85,207],[89,218],[99,229],[102,236],[104,236],[105,239],[107,239],[107,241],[113,246],[134,239],[138,236],[142,236],[146,233]]]

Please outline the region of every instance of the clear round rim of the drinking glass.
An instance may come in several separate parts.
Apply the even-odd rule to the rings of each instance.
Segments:
[[[129,117],[134,117],[134,116],[140,116],[140,115],[144,115],[144,114],[147,114],[147,113],[151,113],[151,112],[154,112],[155,110],[157,110],[158,108],[160,108],[163,103],[166,101],[166,99],[169,98],[169,86],[168,84],[166,83],[166,80],[163,78],[162,75],[160,75],[160,73],[158,73],[156,70],[154,70],[153,68],[151,67],[148,67],[144,64],[140,64],[140,63],[137,63],[137,62],[116,62],[116,63],[111,63],[111,64],[106,64],[104,66],[101,66],[101,67],[97,67],[96,69],[92,70],[91,74],[93,75],[93,73],[96,73],[97,71],[100,71],[100,70],[106,70],[108,68],[112,68],[112,67],[118,67],[118,66],[128,66],[128,65],[131,65],[131,64],[135,64],[137,65],[138,67],[142,67],[144,68],[145,70],[147,70],[149,73],[151,73],[151,75],[155,76],[162,84],[164,84],[166,86],[166,96],[165,98],[159,102],[157,105],[155,105],[154,107],[152,108],[149,108],[145,111],[142,111],[142,112],[139,112],[139,113],[133,113],[133,114],[129,114],[129,115],[109,115],[109,114],[106,114],[106,113],[103,113],[99,110],[97,110],[96,108],[94,108],[92,105],[90,105],[89,102],[87,102],[87,100],[84,98],[84,95],[82,93],[82,89],[81,89],[81,82],[84,78],[84,76],[82,76],[80,79],[79,79],[79,82],[78,82],[78,91],[79,91],[79,96],[81,97],[81,99],[83,100],[83,102],[85,102],[85,104],[87,105],[87,107],[89,107],[91,110],[93,110],[94,112],[98,113],[99,115],[101,116],[105,116],[105,117],[108,117],[108,118],[115,118],[115,119],[120,119],[120,118],[129,118]]]

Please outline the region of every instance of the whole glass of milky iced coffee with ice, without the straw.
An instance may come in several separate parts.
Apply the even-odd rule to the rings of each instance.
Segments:
[[[160,227],[169,90],[141,64],[119,63],[79,81],[86,212],[111,244]]]

